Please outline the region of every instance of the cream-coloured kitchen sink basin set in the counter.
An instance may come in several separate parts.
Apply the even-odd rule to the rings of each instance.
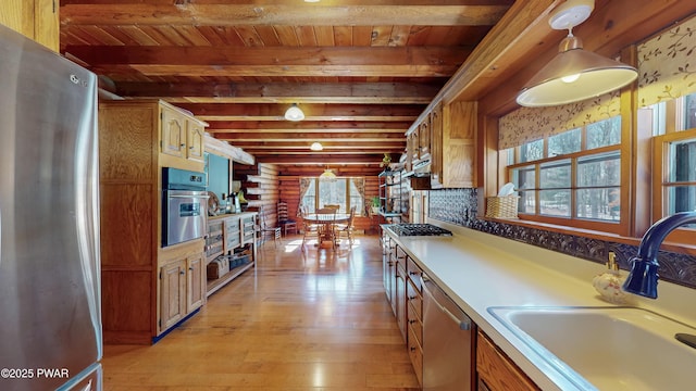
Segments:
[[[535,354],[582,390],[688,390],[696,329],[634,307],[489,307]]]

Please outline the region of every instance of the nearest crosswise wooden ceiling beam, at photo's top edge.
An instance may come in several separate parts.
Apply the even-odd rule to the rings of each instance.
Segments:
[[[114,0],[115,2],[115,0]],[[199,2],[65,3],[61,23],[71,25],[171,26],[490,26],[508,5],[323,5],[211,4]]]

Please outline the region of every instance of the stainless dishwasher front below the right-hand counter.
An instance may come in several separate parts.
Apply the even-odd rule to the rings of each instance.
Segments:
[[[426,274],[423,287],[423,390],[475,390],[474,327]]]

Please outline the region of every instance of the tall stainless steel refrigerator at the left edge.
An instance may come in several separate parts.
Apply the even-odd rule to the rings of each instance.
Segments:
[[[96,76],[0,25],[0,390],[100,390]]]

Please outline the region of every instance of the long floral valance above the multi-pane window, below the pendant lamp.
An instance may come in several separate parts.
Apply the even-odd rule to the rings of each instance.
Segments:
[[[619,92],[551,108],[521,108],[500,118],[504,150],[619,115]]]

